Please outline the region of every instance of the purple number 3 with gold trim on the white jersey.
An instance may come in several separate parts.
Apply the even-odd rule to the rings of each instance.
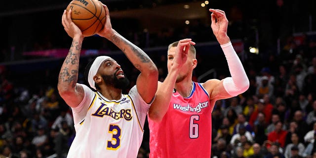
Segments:
[[[108,141],[108,150],[118,150],[120,147],[120,128],[116,124],[110,124],[109,133],[112,134],[112,140]]]

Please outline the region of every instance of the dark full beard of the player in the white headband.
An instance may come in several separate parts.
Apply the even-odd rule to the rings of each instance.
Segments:
[[[102,75],[105,84],[118,89],[126,89],[129,85],[129,80],[126,77],[118,79],[116,74],[117,71],[113,75]]]

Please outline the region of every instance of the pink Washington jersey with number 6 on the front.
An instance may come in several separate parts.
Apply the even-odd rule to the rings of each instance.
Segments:
[[[174,89],[161,122],[149,119],[150,158],[210,158],[213,107],[200,83],[186,98]]]

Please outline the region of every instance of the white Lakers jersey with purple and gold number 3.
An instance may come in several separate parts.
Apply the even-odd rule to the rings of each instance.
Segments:
[[[119,100],[108,100],[86,85],[73,108],[76,137],[67,158],[136,158],[150,105],[134,86]]]

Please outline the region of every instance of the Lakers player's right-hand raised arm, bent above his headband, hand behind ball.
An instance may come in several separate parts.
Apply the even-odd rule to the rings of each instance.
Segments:
[[[106,5],[103,4],[103,6],[106,11],[106,23],[98,35],[105,37],[117,45],[130,62],[141,72],[136,81],[137,90],[144,101],[150,103],[157,90],[158,69],[142,49],[126,40],[112,28],[109,9]]]

